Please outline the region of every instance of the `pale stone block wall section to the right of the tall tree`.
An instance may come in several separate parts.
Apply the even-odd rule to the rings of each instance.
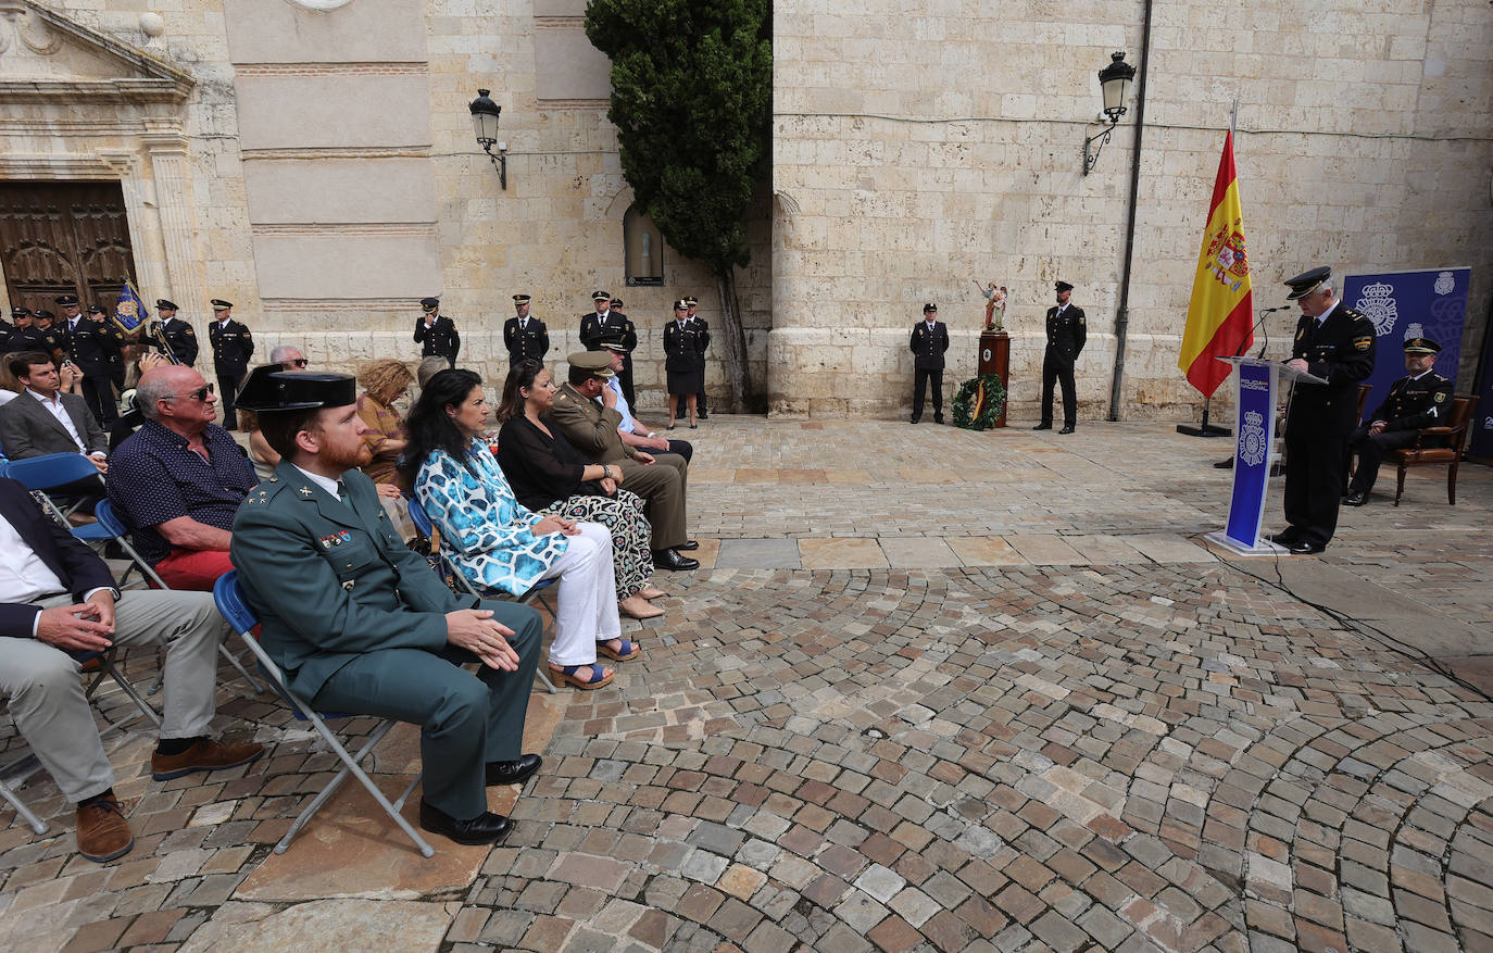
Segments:
[[[1406,6],[1409,9],[1406,9]],[[1053,281],[1088,312],[1079,415],[1108,412],[1135,99],[1082,175],[1109,52],[1139,63],[1144,6],[869,3],[775,16],[770,408],[902,414],[924,300],[953,330],[945,387],[972,376],[982,299],[1012,291],[1012,414],[1036,415]],[[1196,414],[1179,335],[1223,130],[1236,160],[1256,306],[1282,278],[1472,264],[1459,384],[1493,282],[1493,12],[1481,0],[1157,4],[1147,75],[1123,418]],[[1272,354],[1294,326],[1269,318]],[[1444,372],[1448,372],[1444,369]]]

